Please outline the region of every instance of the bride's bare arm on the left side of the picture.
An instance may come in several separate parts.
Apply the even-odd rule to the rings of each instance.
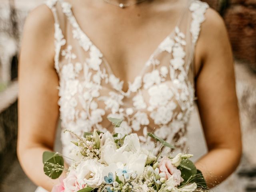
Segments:
[[[59,116],[54,54],[54,18],[50,9],[42,5],[29,14],[23,31],[17,154],[27,176],[48,191],[58,182],[44,174],[42,163],[43,152],[53,150]]]

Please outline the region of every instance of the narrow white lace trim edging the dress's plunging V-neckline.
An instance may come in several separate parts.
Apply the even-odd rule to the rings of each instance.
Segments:
[[[74,14],[73,14],[73,11],[72,11],[72,4],[70,4],[69,2],[65,2],[64,0],[60,0],[60,3],[61,3],[61,4],[66,3],[66,4],[69,5],[69,12],[66,12],[66,11],[65,11],[64,14],[66,14],[66,16],[68,17],[68,19],[69,19],[70,23],[72,24],[73,28],[76,28],[77,30],[79,30],[79,31],[82,33],[83,36],[85,36],[86,38],[88,38],[88,40],[90,41],[90,44],[91,44],[90,46],[94,46],[94,47],[98,50],[98,52],[99,52],[100,55],[101,55],[100,58],[101,58],[102,60],[104,60],[106,66],[108,67],[108,71],[110,71],[110,74],[109,74],[109,75],[113,75],[115,78],[117,78],[117,79],[119,80],[119,82],[122,82],[122,88],[121,88],[121,90],[119,90],[119,91],[120,91],[120,92],[122,93],[122,95],[124,95],[124,96],[130,95],[130,84],[133,84],[134,81],[136,80],[136,78],[138,78],[138,77],[141,77],[141,78],[142,78],[142,76],[143,76],[143,74],[144,74],[144,71],[145,71],[146,68],[148,67],[148,66],[147,66],[148,62],[150,62],[150,60],[152,60],[155,56],[157,56],[157,53],[158,53],[159,50],[160,50],[160,49],[159,49],[160,45],[161,45],[167,38],[171,37],[171,36],[175,33],[175,28],[179,26],[179,24],[180,24],[180,22],[181,22],[181,20],[182,20],[182,18],[183,18],[184,12],[185,12],[185,10],[186,10],[186,7],[188,6],[188,5],[186,5],[186,6],[184,7],[184,9],[182,10],[182,13],[181,13],[180,16],[178,17],[178,20],[176,21],[176,25],[175,25],[174,28],[171,30],[171,32],[168,33],[168,35],[156,46],[156,48],[154,49],[154,51],[152,52],[152,54],[150,54],[150,56],[148,57],[148,59],[146,60],[146,62],[144,62],[143,66],[142,66],[142,70],[140,71],[140,73],[137,74],[137,75],[134,77],[134,79],[132,80],[132,82],[130,82],[130,81],[127,82],[127,83],[128,83],[128,89],[127,89],[126,91],[124,91],[124,90],[123,90],[123,88],[124,88],[124,80],[120,80],[120,78],[118,78],[118,76],[116,76],[116,75],[114,74],[110,63],[108,62],[108,60],[106,59],[105,55],[102,53],[102,51],[100,50],[100,48],[98,48],[98,46],[96,46],[96,45],[94,44],[94,42],[91,40],[91,38],[89,38],[89,37],[87,36],[87,34],[81,29],[80,25],[78,24],[78,22],[77,22],[77,20],[76,20],[76,17],[75,17]],[[63,9],[63,7],[62,7],[62,9]],[[86,51],[86,52],[88,51],[88,50],[86,50],[83,46],[82,46],[82,48],[84,49],[84,51]],[[90,48],[89,48],[89,49],[90,49]],[[160,53],[160,52],[159,52],[159,53]],[[170,53],[170,54],[171,54],[171,53]]]

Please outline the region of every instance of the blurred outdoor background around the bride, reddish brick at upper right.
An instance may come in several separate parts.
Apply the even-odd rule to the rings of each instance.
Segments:
[[[224,18],[230,36],[244,148],[237,171],[212,191],[256,192],[256,0],[205,1]],[[0,192],[34,192],[36,189],[16,156],[17,76],[24,20],[28,12],[42,2],[0,0]],[[197,110],[190,120],[188,138],[194,160],[206,153]],[[59,143],[56,138],[57,151],[60,151]]]

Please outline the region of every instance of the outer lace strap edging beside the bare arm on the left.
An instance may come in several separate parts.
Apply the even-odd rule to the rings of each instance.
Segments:
[[[64,35],[60,28],[60,21],[58,17],[57,8],[56,8],[57,2],[58,0],[47,0],[45,4],[46,6],[48,6],[48,8],[50,8],[54,17],[54,46],[55,46],[54,67],[56,71],[59,73],[60,72],[60,67],[59,67],[60,50],[61,50],[61,47],[66,44],[66,40],[64,39]]]

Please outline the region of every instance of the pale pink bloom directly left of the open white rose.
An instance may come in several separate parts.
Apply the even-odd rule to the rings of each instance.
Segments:
[[[68,176],[63,180],[63,184],[65,192],[76,192],[83,188],[77,182],[75,170],[69,172]]]

